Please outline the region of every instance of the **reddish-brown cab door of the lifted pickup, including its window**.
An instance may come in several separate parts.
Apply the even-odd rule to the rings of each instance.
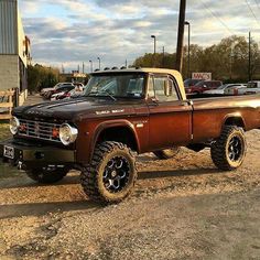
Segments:
[[[182,100],[175,79],[169,75],[150,75],[148,85],[150,149],[188,143],[193,109]]]

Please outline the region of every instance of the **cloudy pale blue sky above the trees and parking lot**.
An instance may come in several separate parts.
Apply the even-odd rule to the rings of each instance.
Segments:
[[[77,69],[131,64],[137,56],[176,48],[178,0],[20,0],[34,63]],[[260,41],[260,0],[187,0],[192,43],[209,45],[251,30]]]

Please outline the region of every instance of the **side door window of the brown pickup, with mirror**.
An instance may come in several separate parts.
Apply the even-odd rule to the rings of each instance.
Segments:
[[[178,100],[174,83],[171,78],[163,76],[154,76],[149,82],[149,97],[154,97],[159,101],[176,101]]]

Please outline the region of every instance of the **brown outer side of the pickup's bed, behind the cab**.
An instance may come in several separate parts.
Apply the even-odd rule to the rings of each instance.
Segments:
[[[217,138],[227,120],[235,120],[245,131],[260,129],[260,95],[219,96],[191,99],[194,142]]]

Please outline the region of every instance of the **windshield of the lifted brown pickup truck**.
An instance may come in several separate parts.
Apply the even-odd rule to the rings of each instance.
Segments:
[[[93,75],[84,95],[141,98],[144,96],[144,74]]]

